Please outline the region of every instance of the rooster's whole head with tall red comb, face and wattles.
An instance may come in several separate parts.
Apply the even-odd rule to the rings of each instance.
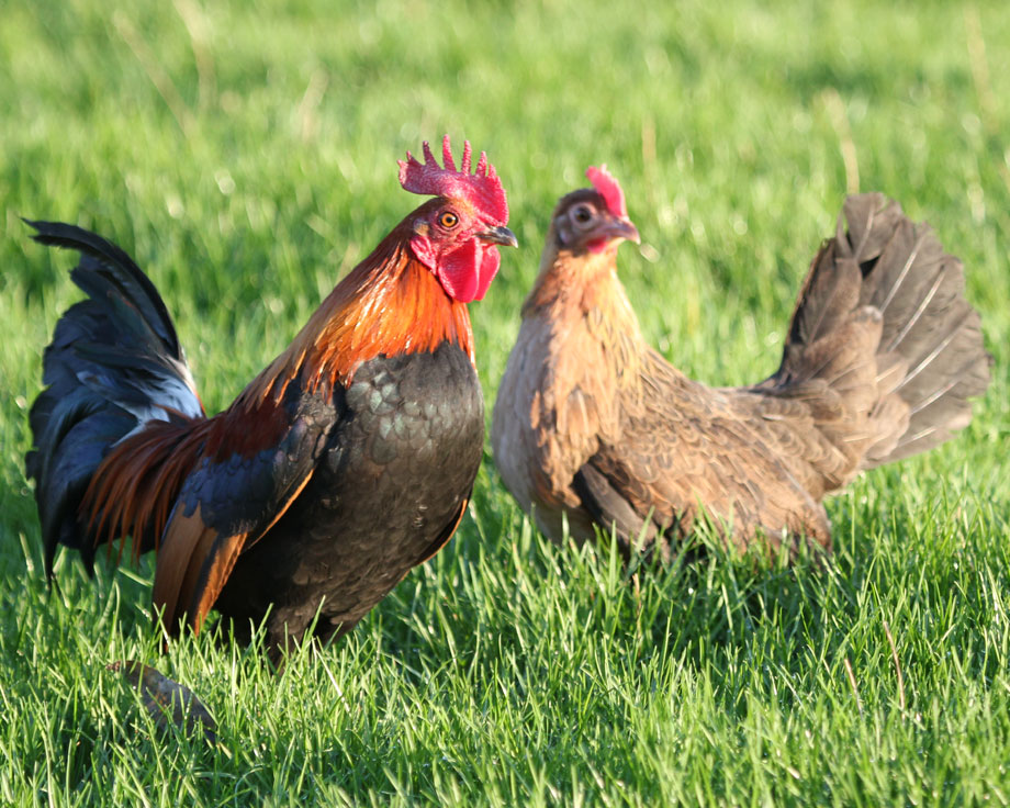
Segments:
[[[400,184],[405,190],[438,198],[411,214],[411,249],[449,296],[462,303],[481,300],[498,271],[498,245],[518,244],[505,226],[505,189],[483,152],[476,169],[470,172],[469,141],[459,171],[449,135],[442,139],[445,167],[438,165],[427,142],[424,157],[422,164],[407,152],[407,159],[400,160]]]

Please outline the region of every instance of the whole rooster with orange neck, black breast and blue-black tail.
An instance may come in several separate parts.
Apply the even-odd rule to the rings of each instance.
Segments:
[[[119,247],[30,222],[80,252],[31,412],[46,570],[57,545],[132,538],[157,552],[170,632],[211,608],[274,650],[341,636],[449,540],[481,462],[484,414],[467,303],[516,245],[482,153],[471,172],[424,144],[400,183],[434,195],[341,280],[291,345],[206,417],[154,284]],[[122,545],[120,552],[122,553]]]

